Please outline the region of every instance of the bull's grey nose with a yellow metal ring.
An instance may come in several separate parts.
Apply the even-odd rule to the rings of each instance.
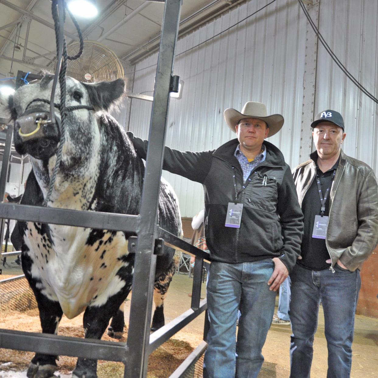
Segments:
[[[46,136],[46,127],[51,124],[48,120],[48,113],[35,112],[17,118],[15,123],[16,130],[22,141],[43,138]]]

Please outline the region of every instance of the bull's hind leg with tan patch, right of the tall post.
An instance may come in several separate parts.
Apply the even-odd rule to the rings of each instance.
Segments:
[[[155,311],[152,317],[151,331],[155,332],[163,327],[164,321],[164,300],[167,295],[169,284],[175,274],[175,262],[172,262],[170,269],[165,274],[161,274],[159,279],[155,282],[153,288],[153,301],[155,302]]]

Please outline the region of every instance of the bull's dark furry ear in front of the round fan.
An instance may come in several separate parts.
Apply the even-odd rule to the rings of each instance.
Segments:
[[[98,84],[82,84],[87,88],[90,102],[96,110],[109,110],[125,90],[125,82],[122,79]]]

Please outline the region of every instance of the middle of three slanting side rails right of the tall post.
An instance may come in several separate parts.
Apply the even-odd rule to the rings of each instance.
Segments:
[[[193,319],[197,318],[198,315],[203,313],[208,308],[208,302],[203,299],[200,303],[198,310],[189,310],[185,311],[177,318],[170,321],[168,324],[159,328],[157,331],[150,335],[150,345],[149,345],[149,354],[152,353],[156,348],[160,347],[161,344],[166,342],[171,336],[176,332],[180,331],[187,324],[189,324]]]

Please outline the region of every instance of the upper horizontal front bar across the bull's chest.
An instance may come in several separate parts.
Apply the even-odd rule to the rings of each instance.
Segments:
[[[105,230],[136,231],[138,215],[0,203],[0,218]]]

